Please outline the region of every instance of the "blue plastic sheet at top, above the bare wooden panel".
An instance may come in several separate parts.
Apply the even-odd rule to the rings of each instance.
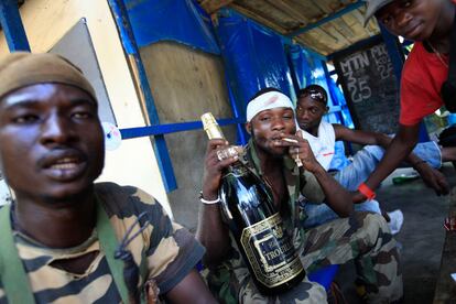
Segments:
[[[210,18],[193,0],[124,0],[139,47],[175,41],[220,54]]]

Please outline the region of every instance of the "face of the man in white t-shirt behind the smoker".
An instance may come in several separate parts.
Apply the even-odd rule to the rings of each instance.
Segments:
[[[323,102],[312,99],[311,96],[301,97],[297,100],[296,120],[300,128],[312,132],[317,130],[322,117],[326,113],[326,106]]]

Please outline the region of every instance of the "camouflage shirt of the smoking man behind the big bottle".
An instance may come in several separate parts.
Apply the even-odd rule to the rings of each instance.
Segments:
[[[246,146],[246,153],[240,158],[240,161],[262,178],[260,160],[251,140]],[[285,208],[285,213],[282,214],[282,220],[285,231],[291,235],[294,247],[297,249],[305,243],[305,231],[302,224],[307,218],[304,208],[298,203],[300,194],[312,203],[323,203],[325,194],[316,177],[312,173],[298,169],[294,160],[289,156],[283,158],[283,176],[289,193],[289,206]],[[231,232],[229,237],[231,249],[226,260],[218,268],[210,269],[205,274],[214,295],[224,303],[238,303],[236,295],[239,285],[250,276],[250,272],[241,258]]]

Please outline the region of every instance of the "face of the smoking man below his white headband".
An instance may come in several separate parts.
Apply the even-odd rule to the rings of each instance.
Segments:
[[[256,115],[247,129],[257,146],[273,156],[283,156],[287,148],[278,146],[283,135],[296,133],[294,112],[290,108],[275,108]]]

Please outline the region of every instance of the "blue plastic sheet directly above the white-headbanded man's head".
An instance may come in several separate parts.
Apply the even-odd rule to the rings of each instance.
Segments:
[[[222,10],[216,32],[241,117],[261,88],[274,87],[295,99],[280,35],[232,10]]]

